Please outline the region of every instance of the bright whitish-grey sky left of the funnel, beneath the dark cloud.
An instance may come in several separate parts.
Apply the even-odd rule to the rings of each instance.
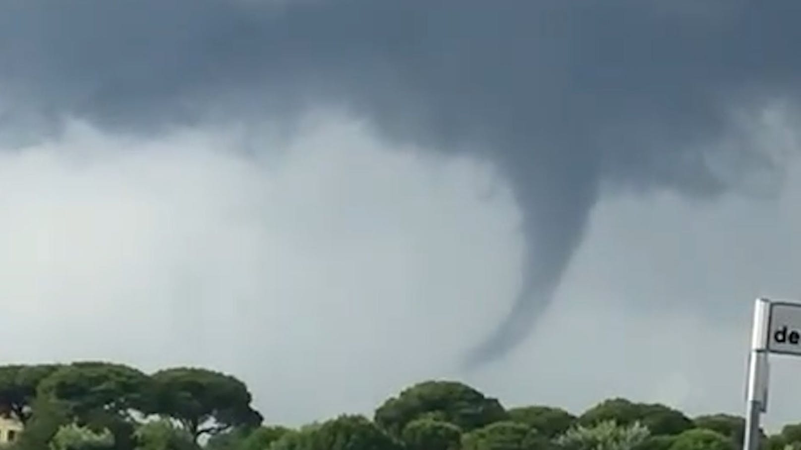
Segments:
[[[432,164],[341,115],[300,129],[280,163],[237,155],[236,129],[78,124],[0,151],[2,360],[219,368],[293,425],[457,376],[465,335],[504,313],[486,299],[518,283],[508,189],[481,199],[487,165]]]

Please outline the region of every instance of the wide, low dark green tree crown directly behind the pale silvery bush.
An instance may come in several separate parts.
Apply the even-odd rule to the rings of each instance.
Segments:
[[[692,420],[673,408],[662,404],[633,403],[621,398],[595,405],[578,418],[578,423],[588,426],[610,420],[620,425],[639,422],[653,435],[676,435],[693,428]]]

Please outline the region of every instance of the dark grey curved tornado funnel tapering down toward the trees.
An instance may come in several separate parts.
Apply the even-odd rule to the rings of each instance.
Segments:
[[[572,154],[562,147],[541,151],[540,157],[509,152],[505,154],[509,158],[501,161],[501,171],[523,211],[522,283],[505,319],[465,356],[465,370],[492,363],[525,340],[551,304],[582,243],[598,199],[599,167],[596,159],[575,159]]]

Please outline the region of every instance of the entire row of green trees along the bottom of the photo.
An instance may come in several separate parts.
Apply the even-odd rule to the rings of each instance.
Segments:
[[[203,368],[146,374],[123,364],[0,367],[0,412],[24,425],[14,450],[742,450],[745,420],[604,400],[585,412],[505,408],[452,380],[401,390],[372,417],[299,428],[265,421],[248,387]],[[763,450],[801,450],[801,424]]]

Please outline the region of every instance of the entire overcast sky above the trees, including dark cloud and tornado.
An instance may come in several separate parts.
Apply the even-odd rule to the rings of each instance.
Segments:
[[[437,377],[743,412],[753,300],[801,295],[798,7],[612,3],[3,4],[2,360],[202,364],[284,424]]]

